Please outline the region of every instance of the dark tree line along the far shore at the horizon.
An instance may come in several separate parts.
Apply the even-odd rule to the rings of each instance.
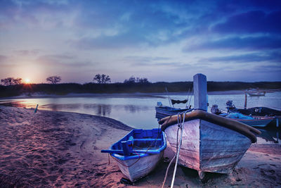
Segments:
[[[0,85],[0,97],[18,96],[21,94],[118,94],[118,93],[166,93],[192,91],[193,82],[123,82],[99,84],[89,82],[86,84],[57,83],[57,84],[14,84]],[[249,88],[281,89],[281,82],[207,82],[208,92],[246,90]]]

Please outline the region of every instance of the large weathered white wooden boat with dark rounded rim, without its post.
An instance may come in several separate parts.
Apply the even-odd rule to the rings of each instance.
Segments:
[[[159,123],[176,153],[177,115]],[[259,130],[235,120],[200,110],[186,113],[178,163],[199,173],[230,173],[251,142],[256,142],[255,134],[260,134]]]

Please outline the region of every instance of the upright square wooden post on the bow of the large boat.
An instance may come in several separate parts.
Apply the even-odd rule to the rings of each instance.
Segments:
[[[207,111],[207,77],[203,74],[193,76],[194,108]]]

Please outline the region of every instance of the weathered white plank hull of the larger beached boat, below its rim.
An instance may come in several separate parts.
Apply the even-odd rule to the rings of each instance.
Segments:
[[[165,130],[174,153],[177,130],[177,124]],[[250,145],[251,140],[239,132],[207,120],[188,120],[183,126],[183,142],[178,162],[199,173],[230,173]]]

